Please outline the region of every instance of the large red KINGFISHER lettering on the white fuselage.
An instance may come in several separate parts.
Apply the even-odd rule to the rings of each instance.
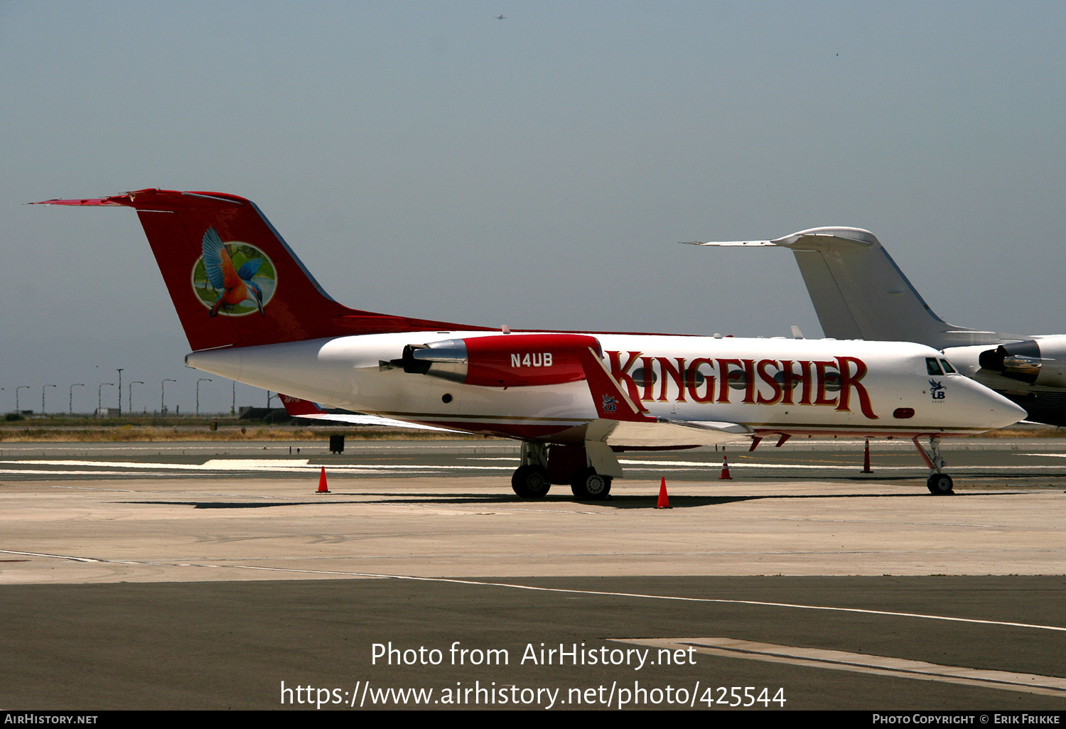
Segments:
[[[697,357],[690,361],[643,352],[604,354],[611,375],[634,403],[823,405],[844,412],[851,412],[857,404],[863,416],[878,419],[870,393],[862,385],[867,366],[858,357],[818,360]],[[633,377],[634,372],[640,384]]]

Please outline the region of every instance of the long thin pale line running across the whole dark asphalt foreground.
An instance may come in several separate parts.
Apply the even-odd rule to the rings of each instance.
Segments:
[[[1007,620],[984,620],[980,618],[951,617],[949,615],[927,615],[924,613],[900,613],[888,610],[868,610],[863,608],[834,608],[829,605],[801,605],[791,602],[768,602],[764,600],[727,600],[724,598],[694,598],[679,595],[645,595],[642,593],[614,593],[596,589],[571,589],[566,587],[537,587],[510,582],[482,582],[479,580],[461,580],[458,578],[427,578],[414,574],[381,574],[377,572],[348,572],[325,569],[294,569],[292,567],[258,567],[255,565],[212,565],[193,562],[162,562],[147,560],[103,560],[98,557],[82,557],[68,554],[47,554],[43,552],[19,552],[0,549],[0,554],[20,554],[30,556],[52,557],[55,560],[71,560],[75,562],[96,562],[115,565],[145,565],[149,567],[205,567],[212,569],[255,569],[268,572],[294,572],[300,574],[335,574],[338,577],[376,578],[382,580],[410,580],[413,582],[445,582],[454,585],[477,585],[482,587],[507,587],[510,589],[529,589],[539,593],[562,593],[566,595],[596,595],[602,597],[628,597],[645,600],[674,600],[679,602],[708,602],[733,605],[760,605],[764,608],[789,608],[792,610],[821,610],[836,613],[857,613],[861,615],[888,615],[891,617],[909,617],[922,620],[944,620],[948,622],[967,622],[981,626],[1003,626],[1005,628],[1030,628],[1033,630],[1051,630],[1066,633],[1066,628],[1060,626],[1044,626],[1032,622],[1011,622]]]

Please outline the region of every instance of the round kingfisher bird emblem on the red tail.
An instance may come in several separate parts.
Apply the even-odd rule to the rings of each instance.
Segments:
[[[208,315],[260,315],[274,296],[277,272],[266,254],[248,243],[223,243],[219,231],[204,232],[204,255],[193,266],[193,291],[208,309]]]

